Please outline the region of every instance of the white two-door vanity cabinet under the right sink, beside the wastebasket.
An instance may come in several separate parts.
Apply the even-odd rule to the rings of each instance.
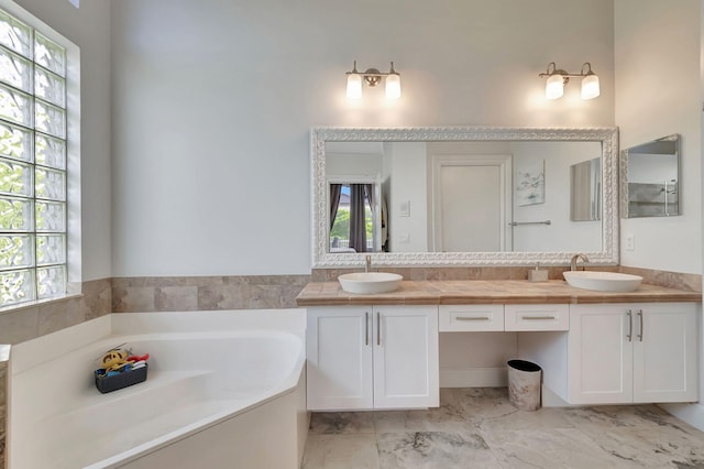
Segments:
[[[694,303],[570,306],[570,404],[697,400]]]

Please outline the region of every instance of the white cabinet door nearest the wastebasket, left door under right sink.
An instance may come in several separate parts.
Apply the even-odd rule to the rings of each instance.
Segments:
[[[636,318],[623,305],[570,305],[570,404],[631,402]]]

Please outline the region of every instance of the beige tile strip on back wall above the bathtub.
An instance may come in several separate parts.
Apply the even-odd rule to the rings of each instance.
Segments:
[[[266,309],[296,307],[310,275],[112,279],[112,312]]]

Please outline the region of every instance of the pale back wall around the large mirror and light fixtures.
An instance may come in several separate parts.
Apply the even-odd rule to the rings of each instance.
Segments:
[[[613,1],[120,0],[113,274],[310,271],[309,128],[612,126]],[[585,37],[590,37],[588,41]],[[403,97],[345,97],[394,61]],[[602,96],[543,98],[549,62]],[[280,210],[282,201],[290,207]]]

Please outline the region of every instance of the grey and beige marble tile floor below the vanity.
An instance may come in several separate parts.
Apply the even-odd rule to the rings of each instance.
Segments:
[[[704,468],[704,432],[654,405],[518,411],[505,388],[427,411],[314,413],[304,469]]]

